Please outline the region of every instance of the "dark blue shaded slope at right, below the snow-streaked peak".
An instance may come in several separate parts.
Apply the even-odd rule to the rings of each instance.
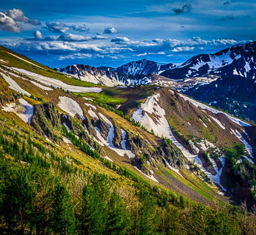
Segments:
[[[208,85],[191,88],[184,93],[213,107],[227,110],[238,118],[256,122],[255,80],[238,75],[222,76]]]

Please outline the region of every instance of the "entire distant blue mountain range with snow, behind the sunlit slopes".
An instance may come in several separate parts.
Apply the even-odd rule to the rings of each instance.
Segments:
[[[225,50],[221,50],[214,54],[195,55],[181,66],[173,63],[160,64],[146,59],[140,61],[132,61],[117,68],[113,67],[91,67],[84,65],[72,65],[66,68],[56,69],[59,72],[71,74],[72,76],[94,82],[100,85],[160,85],[175,88],[181,92],[185,92],[200,101],[214,105],[221,109],[236,115],[236,117],[256,121],[255,115],[255,99],[243,99],[247,90],[255,90],[256,65],[255,65],[256,42],[235,45]],[[216,80],[224,76],[224,80],[229,75],[230,87],[239,87],[242,83],[251,84],[252,87],[247,88],[241,86],[239,95],[225,92],[222,85],[219,84],[218,89],[211,89],[211,99],[206,96],[198,95],[198,92],[204,94],[209,88],[220,81]],[[249,79],[249,80],[246,80]],[[211,84],[211,85],[209,85]],[[200,90],[197,90],[200,87]],[[192,90],[189,90],[191,88]],[[222,89],[222,90],[219,90]],[[187,91],[189,90],[189,91]],[[216,92],[214,92],[216,90]],[[230,89],[229,89],[230,90]],[[232,89],[231,89],[232,90]],[[224,91],[224,93],[222,92]],[[233,91],[234,92],[234,91]],[[236,92],[234,92],[236,94]],[[223,99],[223,97],[229,99]],[[237,99],[239,97],[239,99]],[[248,97],[248,96],[247,96]],[[219,101],[217,101],[219,100]],[[249,102],[249,103],[248,103]],[[235,105],[236,104],[236,105]],[[235,106],[237,108],[235,108]],[[246,107],[249,106],[248,109]],[[236,110],[236,112],[235,112]],[[249,111],[250,110],[250,111]]]

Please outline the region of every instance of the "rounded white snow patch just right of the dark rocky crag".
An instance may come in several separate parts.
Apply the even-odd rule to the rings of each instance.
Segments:
[[[84,119],[83,117],[83,110],[80,108],[80,105],[77,101],[74,101],[73,99],[66,97],[66,96],[59,96],[59,104],[58,106],[65,112],[67,112],[72,118],[75,117],[76,114]]]

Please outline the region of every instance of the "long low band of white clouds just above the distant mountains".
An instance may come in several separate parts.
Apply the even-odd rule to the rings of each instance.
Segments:
[[[187,60],[188,56],[193,56],[196,53],[202,53],[202,50],[208,53],[217,52],[237,43],[244,41],[236,41],[233,39],[214,39],[204,40],[200,37],[192,37],[192,39],[178,40],[178,39],[153,39],[146,41],[133,41],[127,37],[116,37],[109,42],[71,42],[61,41],[61,39],[47,41],[47,36],[43,36],[41,32],[34,32],[34,40],[24,40],[21,42],[6,42],[4,46],[23,53],[25,55],[35,56],[42,55],[40,61],[54,60],[75,60],[100,59],[103,58],[108,61],[111,59],[134,60],[137,56],[148,56],[154,58],[163,58],[165,56],[176,56],[176,58],[184,58]],[[36,40],[37,38],[37,40]],[[154,56],[154,58],[153,58]],[[69,63],[68,62],[68,63]],[[70,62],[73,63],[73,62]]]

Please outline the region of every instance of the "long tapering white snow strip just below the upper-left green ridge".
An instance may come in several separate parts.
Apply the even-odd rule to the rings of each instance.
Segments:
[[[25,69],[18,69],[12,67],[13,70],[23,73],[34,80],[37,80],[37,82],[41,82],[42,84],[48,85],[48,86],[53,86],[54,88],[62,88],[64,90],[69,90],[72,92],[95,92],[99,93],[102,91],[102,88],[85,88],[85,87],[80,87],[76,85],[68,85],[67,83],[61,82],[60,80],[56,80],[52,77],[45,77],[40,74],[35,74],[33,72],[26,71]]]

